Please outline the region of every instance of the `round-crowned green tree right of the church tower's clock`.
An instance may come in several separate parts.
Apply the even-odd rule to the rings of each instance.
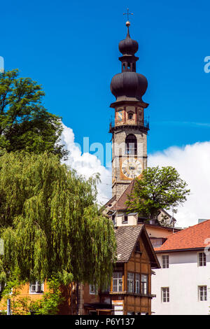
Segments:
[[[148,168],[142,172],[141,179],[136,179],[134,192],[128,197],[127,210],[156,218],[160,209],[169,210],[186,201],[186,195],[190,194],[186,186],[173,167]]]

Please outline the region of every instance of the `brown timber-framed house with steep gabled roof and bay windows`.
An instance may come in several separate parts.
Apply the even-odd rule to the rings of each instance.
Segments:
[[[151,315],[151,300],[155,297],[151,290],[152,269],[160,264],[146,229],[137,223],[118,223],[116,241],[111,286],[106,291],[85,286],[84,314]]]

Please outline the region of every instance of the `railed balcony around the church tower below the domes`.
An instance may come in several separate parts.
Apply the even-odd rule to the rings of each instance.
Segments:
[[[127,122],[123,120],[114,120],[111,118],[109,123],[109,132],[113,133],[116,130],[141,130],[142,132],[147,133],[149,130],[149,118],[144,118],[141,122]]]

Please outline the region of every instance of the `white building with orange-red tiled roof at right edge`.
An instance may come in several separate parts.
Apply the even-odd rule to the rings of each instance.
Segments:
[[[155,248],[152,309],[157,315],[207,315],[210,307],[210,220],[169,235]]]

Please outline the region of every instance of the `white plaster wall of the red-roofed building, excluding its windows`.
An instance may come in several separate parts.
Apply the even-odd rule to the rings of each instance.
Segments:
[[[167,254],[167,253],[165,253]],[[162,266],[162,254],[157,254]],[[152,276],[152,314],[207,315],[210,307],[210,255],[207,266],[198,266],[196,251],[168,253],[169,268]],[[199,301],[198,286],[207,286],[207,301]],[[161,288],[169,287],[169,302],[162,302]]]

